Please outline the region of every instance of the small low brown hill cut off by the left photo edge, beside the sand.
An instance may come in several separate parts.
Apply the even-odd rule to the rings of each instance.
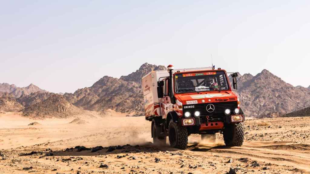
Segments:
[[[13,97],[1,97],[0,98],[0,111],[4,112],[18,112],[24,109],[24,107],[18,103]]]

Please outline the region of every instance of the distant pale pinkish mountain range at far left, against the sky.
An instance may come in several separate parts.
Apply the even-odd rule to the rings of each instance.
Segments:
[[[40,89],[38,86],[33,85],[33,84],[20,88],[20,87],[17,87],[16,85],[0,83],[0,92],[7,92],[13,95],[15,98],[19,98],[21,95],[29,95],[35,92],[47,92],[47,91]]]

